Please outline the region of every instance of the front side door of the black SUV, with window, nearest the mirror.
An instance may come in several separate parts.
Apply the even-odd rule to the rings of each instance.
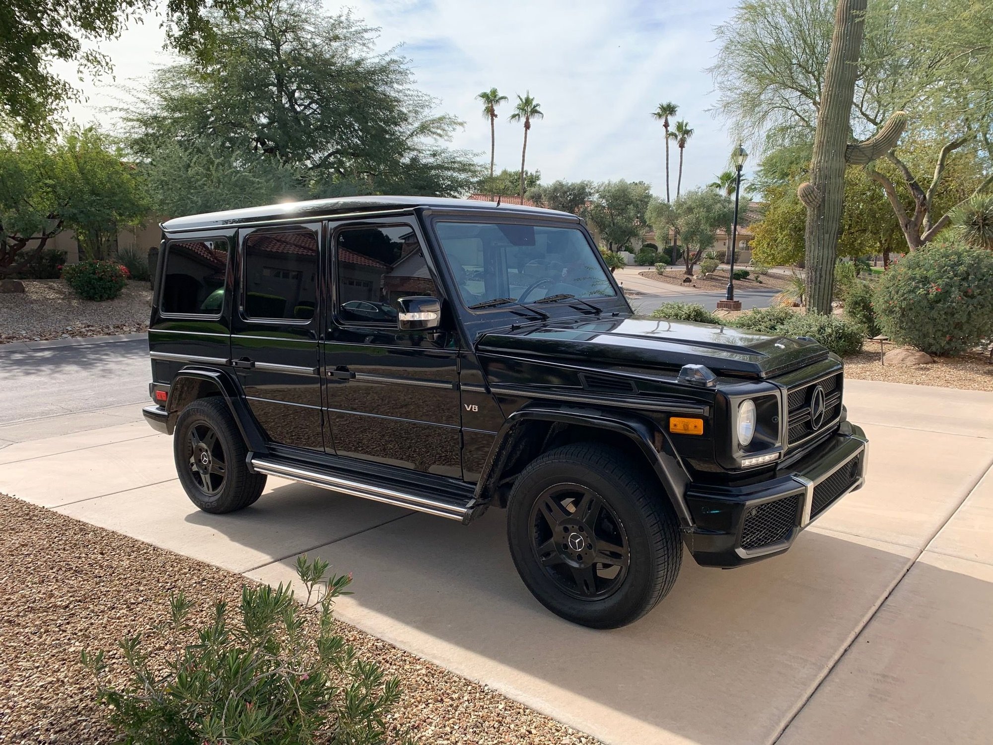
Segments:
[[[341,456],[462,477],[458,335],[400,331],[397,299],[441,299],[420,230],[403,219],[329,231],[326,423]]]

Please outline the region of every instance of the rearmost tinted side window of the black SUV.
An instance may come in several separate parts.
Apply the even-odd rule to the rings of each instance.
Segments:
[[[178,241],[166,246],[163,313],[219,316],[224,306],[227,240]]]

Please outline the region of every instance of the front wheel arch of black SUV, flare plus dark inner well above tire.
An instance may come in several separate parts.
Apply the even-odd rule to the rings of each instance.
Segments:
[[[506,506],[509,481],[536,456],[571,442],[615,444],[621,435],[636,446],[644,464],[658,479],[679,524],[691,525],[683,493],[689,476],[668,435],[638,414],[542,405],[519,409],[507,417],[484,465],[477,498]]]

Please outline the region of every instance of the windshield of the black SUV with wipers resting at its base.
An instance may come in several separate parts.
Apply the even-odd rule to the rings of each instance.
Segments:
[[[435,231],[467,306],[617,294],[597,249],[577,227],[436,223]]]

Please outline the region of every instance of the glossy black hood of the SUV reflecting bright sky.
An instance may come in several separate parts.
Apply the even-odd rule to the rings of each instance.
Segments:
[[[485,335],[481,354],[594,362],[614,367],[678,371],[706,365],[714,373],[772,377],[824,360],[813,341],[755,334],[727,326],[634,318],[577,319]]]

